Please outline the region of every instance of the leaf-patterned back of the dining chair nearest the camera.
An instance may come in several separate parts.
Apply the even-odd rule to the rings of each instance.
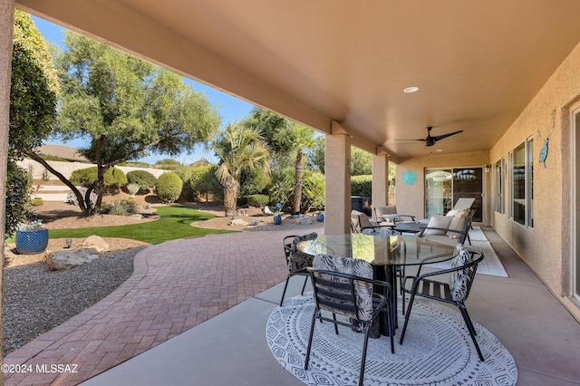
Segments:
[[[317,255],[309,268],[314,302],[321,310],[360,322],[372,320],[372,265],[350,257]]]

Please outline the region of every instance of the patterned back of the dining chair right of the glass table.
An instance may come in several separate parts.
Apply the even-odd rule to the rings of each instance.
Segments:
[[[459,243],[456,249],[458,254],[451,262],[451,269],[455,270],[449,275],[449,292],[454,301],[463,303],[469,296],[483,255],[480,252],[468,251]]]

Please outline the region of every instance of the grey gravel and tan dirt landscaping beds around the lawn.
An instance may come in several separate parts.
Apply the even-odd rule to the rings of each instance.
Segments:
[[[312,225],[297,225],[284,218],[282,225],[275,226],[272,216],[262,216],[259,208],[241,209],[240,216],[247,222],[257,221],[257,226],[232,226],[232,217],[224,217],[219,207],[206,204],[196,205],[217,217],[193,223],[195,227],[240,231],[295,230],[324,227],[313,221]],[[141,213],[143,219],[105,215],[82,217],[80,209],[61,202],[45,201],[36,207],[36,215],[43,218],[48,229],[74,227],[106,227],[153,221],[154,207]],[[109,238],[104,240],[110,252],[102,253],[98,259],[73,269],[50,271],[45,254],[19,255],[14,244],[5,246],[4,271],[4,345],[3,356],[22,347],[38,335],[67,321],[84,309],[97,303],[121,285],[133,272],[133,257],[147,245],[135,240]],[[82,239],[73,239],[73,248],[80,246]],[[50,239],[47,251],[63,249],[63,239]]]

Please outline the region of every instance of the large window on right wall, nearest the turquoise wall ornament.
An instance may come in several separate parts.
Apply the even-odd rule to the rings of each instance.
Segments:
[[[533,144],[533,140],[526,140],[510,154],[511,216],[526,227],[534,227]]]

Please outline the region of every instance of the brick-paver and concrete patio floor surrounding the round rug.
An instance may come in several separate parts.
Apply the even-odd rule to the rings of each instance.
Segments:
[[[580,385],[580,323],[491,228],[483,230],[509,277],[478,275],[469,314],[512,353],[518,385]],[[5,359],[77,364],[78,372],[10,374],[5,384],[302,384],[266,343],[266,321],[284,288],[288,234],[151,246],[113,294]],[[293,278],[288,296],[302,283]]]

